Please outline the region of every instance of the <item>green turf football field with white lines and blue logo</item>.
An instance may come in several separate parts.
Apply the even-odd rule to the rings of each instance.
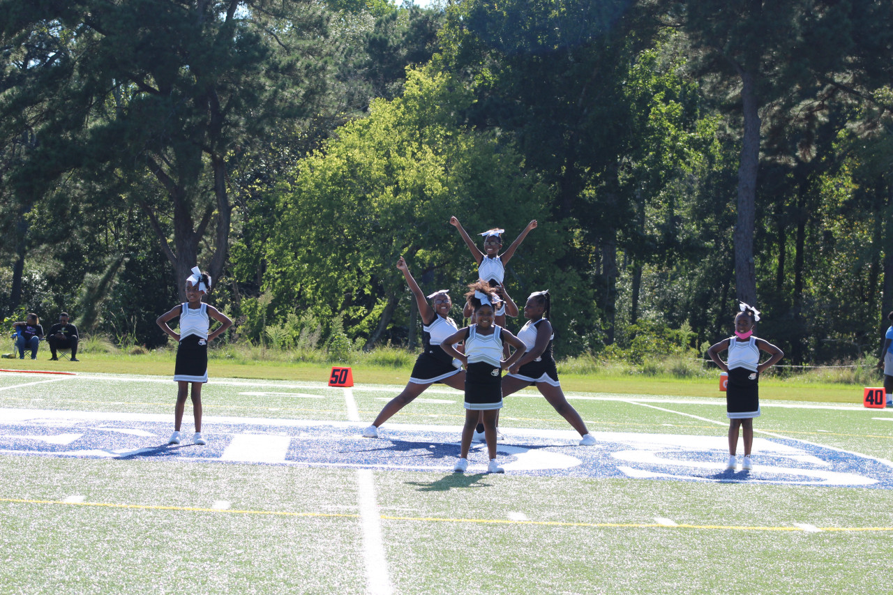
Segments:
[[[212,378],[169,446],[167,378],[0,373],[0,592],[893,592],[893,410],[855,393],[764,400],[746,472],[722,398],[594,382],[580,447],[524,390],[490,475],[452,473],[459,391],[365,439],[402,387],[355,381]]]

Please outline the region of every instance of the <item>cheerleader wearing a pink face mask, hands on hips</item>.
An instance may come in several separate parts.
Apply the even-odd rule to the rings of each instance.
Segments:
[[[760,373],[777,364],[784,353],[769,341],[753,336],[754,324],[760,320],[756,308],[740,304],[740,312],[735,316],[735,336],[722,339],[707,349],[707,355],[720,366],[723,372],[729,373],[726,385],[726,415],[729,417],[729,461],[726,469],[738,467],[739,427],[744,433],[744,457],[741,469],[750,471],[750,448],[754,444],[754,418],[760,415]],[[720,359],[720,352],[727,350],[725,362]],[[760,364],[760,351],[770,355]]]

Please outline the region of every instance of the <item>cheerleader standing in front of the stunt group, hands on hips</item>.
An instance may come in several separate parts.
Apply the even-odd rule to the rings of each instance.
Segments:
[[[475,323],[456,331],[440,344],[447,355],[455,357],[465,365],[465,424],[462,429],[462,443],[459,460],[453,470],[464,473],[468,470],[468,450],[472,446],[472,433],[483,414],[484,437],[489,455],[488,473],[505,473],[497,465],[497,412],[502,406],[501,371],[513,365],[524,353],[521,339],[494,323],[497,295],[491,293],[486,281],[472,285],[466,294],[472,303]],[[453,346],[464,341],[465,352],[459,353]],[[508,359],[501,359],[503,344],[515,348]]]

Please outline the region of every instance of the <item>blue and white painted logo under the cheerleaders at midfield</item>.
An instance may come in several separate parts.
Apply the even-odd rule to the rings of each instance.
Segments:
[[[207,418],[207,446],[166,444],[168,415],[0,409],[0,455],[296,465],[451,473],[458,428],[386,426],[380,440],[357,423]],[[507,473],[685,482],[747,482],[893,489],[893,468],[872,457],[800,440],[754,441],[753,471],[727,471],[719,436],[596,432],[577,446],[569,431],[504,428],[497,445]],[[472,445],[469,472],[482,473],[486,446]]]

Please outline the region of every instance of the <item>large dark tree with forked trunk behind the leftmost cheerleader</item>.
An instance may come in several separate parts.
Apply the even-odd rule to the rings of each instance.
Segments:
[[[41,139],[13,185],[39,196],[39,184],[79,170],[126,188],[178,286],[213,226],[206,267],[220,276],[232,163],[323,96],[330,61],[319,4],[33,0],[0,5],[0,21],[5,71],[28,63],[4,79],[4,138],[30,129]],[[29,57],[36,30],[60,51]]]

